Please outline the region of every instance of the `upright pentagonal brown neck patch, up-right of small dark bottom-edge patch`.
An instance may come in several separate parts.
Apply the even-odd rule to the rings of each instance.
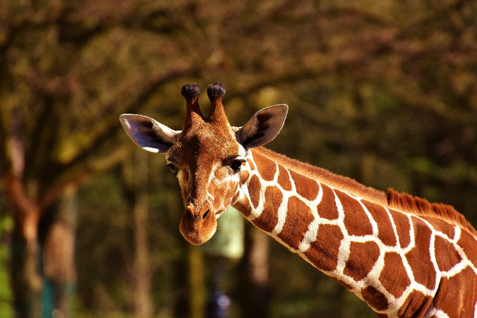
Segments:
[[[394,297],[401,297],[411,280],[407,276],[401,256],[396,252],[384,255],[384,268],[379,276],[379,281]]]

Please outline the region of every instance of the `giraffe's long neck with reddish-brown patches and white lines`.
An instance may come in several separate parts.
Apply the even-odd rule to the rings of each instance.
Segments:
[[[384,193],[347,185],[329,172],[319,177],[306,167],[294,169],[276,156],[260,148],[251,152],[233,206],[378,316],[430,317],[443,283],[447,290],[447,280],[467,267],[476,276],[477,264],[460,246],[465,237],[476,249],[467,231],[390,209]],[[451,256],[436,258],[436,249]]]

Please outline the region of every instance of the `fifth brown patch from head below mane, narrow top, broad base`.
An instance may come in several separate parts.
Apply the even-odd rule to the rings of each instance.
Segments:
[[[340,190],[335,190],[344,211],[344,226],[348,235],[365,236],[373,234],[373,226],[361,204]]]

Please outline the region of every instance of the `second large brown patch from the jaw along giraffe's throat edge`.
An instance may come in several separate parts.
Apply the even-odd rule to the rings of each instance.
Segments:
[[[314,219],[312,210],[299,198],[293,196],[288,200],[287,219],[278,237],[297,249]]]

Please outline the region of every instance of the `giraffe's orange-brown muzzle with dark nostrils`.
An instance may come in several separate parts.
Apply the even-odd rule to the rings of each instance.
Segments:
[[[194,245],[207,242],[215,234],[217,219],[209,205],[196,209],[188,204],[180,219],[179,230],[184,239]]]

